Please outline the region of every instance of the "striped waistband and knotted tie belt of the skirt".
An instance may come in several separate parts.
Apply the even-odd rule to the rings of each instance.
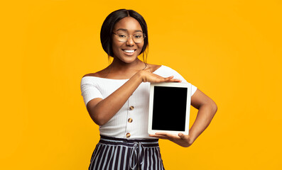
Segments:
[[[129,147],[131,153],[129,156],[129,166],[135,169],[138,164],[144,163],[145,149],[150,147],[158,147],[158,139],[125,139],[116,137],[107,137],[100,135],[99,143],[107,145],[116,145]]]

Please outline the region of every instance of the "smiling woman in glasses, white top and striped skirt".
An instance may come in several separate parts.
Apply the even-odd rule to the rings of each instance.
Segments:
[[[85,106],[101,136],[89,169],[164,169],[158,139],[189,147],[210,124],[217,106],[192,86],[191,105],[199,111],[189,135],[148,135],[149,84],[185,79],[169,67],[144,61],[148,30],[136,11],[110,13],[102,25],[101,42],[114,58],[112,64],[81,81]],[[141,54],[143,62],[138,58]]]

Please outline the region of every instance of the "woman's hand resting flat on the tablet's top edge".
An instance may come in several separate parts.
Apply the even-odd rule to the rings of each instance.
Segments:
[[[150,68],[143,69],[139,71],[138,74],[141,76],[142,82],[150,82],[150,83],[181,82],[180,79],[173,79],[173,76],[161,77],[157,74],[153,74]]]

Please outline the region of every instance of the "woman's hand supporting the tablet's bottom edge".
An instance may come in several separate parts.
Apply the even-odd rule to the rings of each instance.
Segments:
[[[184,135],[183,133],[178,133],[178,135],[173,135],[166,132],[156,132],[155,135],[149,135],[150,137],[157,137],[158,139],[170,140],[171,142],[175,142],[175,144],[180,145],[181,147],[190,147],[194,140],[190,137],[190,135]]]

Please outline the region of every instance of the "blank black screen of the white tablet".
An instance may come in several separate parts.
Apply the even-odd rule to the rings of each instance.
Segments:
[[[153,130],[185,131],[187,88],[154,86]]]

